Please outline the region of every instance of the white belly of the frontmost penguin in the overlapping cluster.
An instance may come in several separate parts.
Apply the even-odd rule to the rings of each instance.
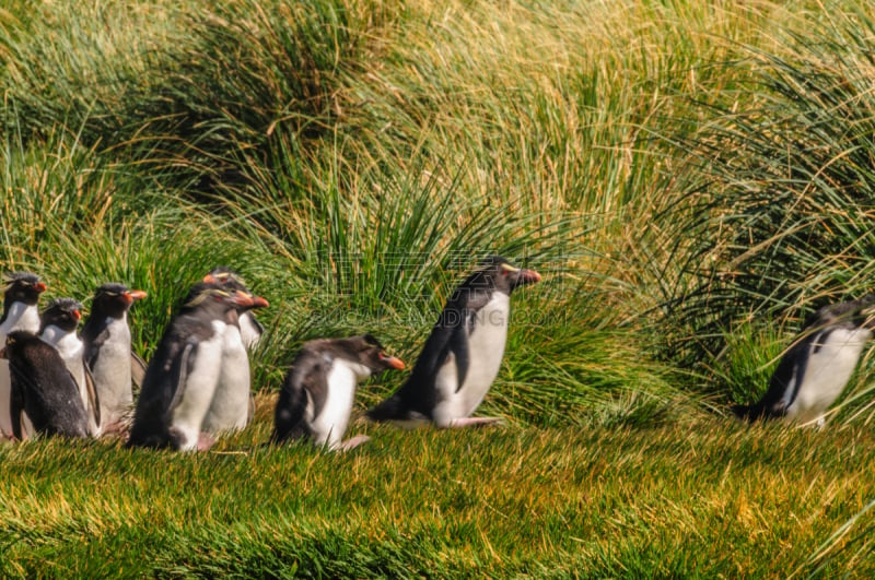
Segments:
[[[212,322],[213,335],[198,343],[195,364],[185,377],[179,402],[173,410],[171,429],[179,436],[179,449],[194,451],[198,446],[203,417],[212,403],[222,365],[224,323]],[[183,364],[187,364],[183,362]]]

